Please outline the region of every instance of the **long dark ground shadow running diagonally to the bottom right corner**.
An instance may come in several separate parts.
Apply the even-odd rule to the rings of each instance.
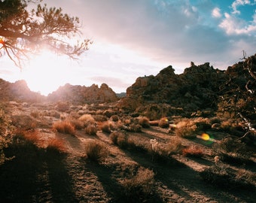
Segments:
[[[192,192],[203,194],[207,198],[212,198],[218,202],[233,202],[236,197],[245,202],[253,202],[255,199],[255,195],[253,193],[248,194],[247,191],[219,189],[218,187],[207,184],[200,178],[199,172],[185,165],[178,164],[176,163],[177,161],[170,161],[168,163],[152,162],[151,157],[145,153],[133,152],[133,150],[126,150],[125,153],[126,156],[130,156],[139,165],[145,168],[151,168],[156,174],[155,178],[157,180],[176,194],[187,199],[187,201],[195,201],[190,196]],[[172,162],[174,163],[173,165]]]

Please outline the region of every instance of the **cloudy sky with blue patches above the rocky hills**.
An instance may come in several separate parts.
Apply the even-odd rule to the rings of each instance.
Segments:
[[[79,17],[81,38],[93,44],[78,61],[49,50],[23,71],[0,57],[0,77],[25,79],[44,95],[66,83],[126,92],[137,77],[169,65],[181,74],[190,62],[227,69],[242,50],[256,53],[256,0],[43,0]]]

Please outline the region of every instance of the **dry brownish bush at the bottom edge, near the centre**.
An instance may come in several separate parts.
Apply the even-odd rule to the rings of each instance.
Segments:
[[[154,195],[156,186],[154,172],[140,167],[135,175],[120,180],[124,198],[130,202],[148,202]]]

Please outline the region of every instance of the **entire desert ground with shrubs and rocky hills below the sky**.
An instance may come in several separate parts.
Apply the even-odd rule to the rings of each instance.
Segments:
[[[254,202],[256,55],[126,94],[0,81],[1,202]]]

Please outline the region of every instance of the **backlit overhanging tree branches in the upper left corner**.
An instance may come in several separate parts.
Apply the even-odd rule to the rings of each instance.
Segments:
[[[30,53],[43,47],[76,59],[91,43],[89,39],[72,43],[81,34],[79,19],[63,14],[62,8],[39,4],[26,10],[41,1],[0,0],[0,56],[7,55],[20,68]]]

